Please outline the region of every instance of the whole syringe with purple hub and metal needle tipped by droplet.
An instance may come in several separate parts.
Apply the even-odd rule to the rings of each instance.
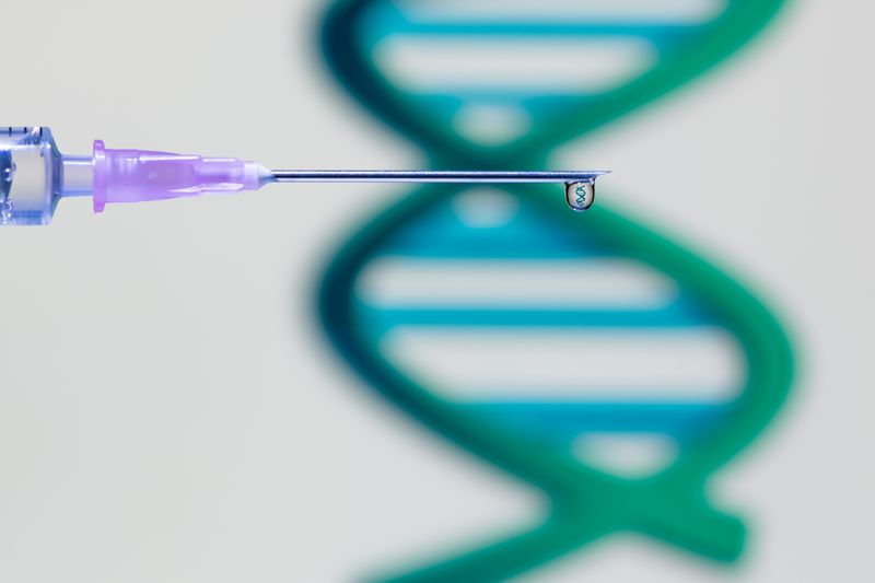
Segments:
[[[144,150],[63,155],[45,127],[0,127],[0,224],[47,224],[61,198],[91,196],[94,212],[112,202],[141,202],[208,193],[256,190],[270,183],[560,183],[571,209],[595,200],[604,171],[270,171],[235,158]]]

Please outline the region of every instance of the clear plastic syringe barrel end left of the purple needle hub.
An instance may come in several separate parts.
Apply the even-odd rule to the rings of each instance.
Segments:
[[[0,225],[48,223],[62,175],[48,128],[0,127]]]

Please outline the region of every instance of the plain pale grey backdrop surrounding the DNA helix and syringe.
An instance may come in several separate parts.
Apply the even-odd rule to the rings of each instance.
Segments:
[[[324,4],[4,2],[2,123],[69,153],[421,165],[331,80]],[[800,376],[712,483],[748,517],[742,565],[623,538],[532,580],[875,580],[873,18],[792,2],[705,81],[562,149],[751,283]],[[373,399],[315,323],[332,249],[404,191],[65,201],[0,231],[0,581],[345,581],[534,520],[535,492]]]

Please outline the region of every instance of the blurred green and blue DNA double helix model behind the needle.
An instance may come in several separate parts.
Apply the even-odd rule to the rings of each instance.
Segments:
[[[431,167],[540,168],[781,3],[338,0],[322,48]],[[705,483],[780,409],[790,343],[742,284],[610,198],[581,215],[549,186],[419,186],[328,266],[322,324],[366,385],[549,501],[530,528],[388,579],[503,580],[628,532],[742,553]]]

